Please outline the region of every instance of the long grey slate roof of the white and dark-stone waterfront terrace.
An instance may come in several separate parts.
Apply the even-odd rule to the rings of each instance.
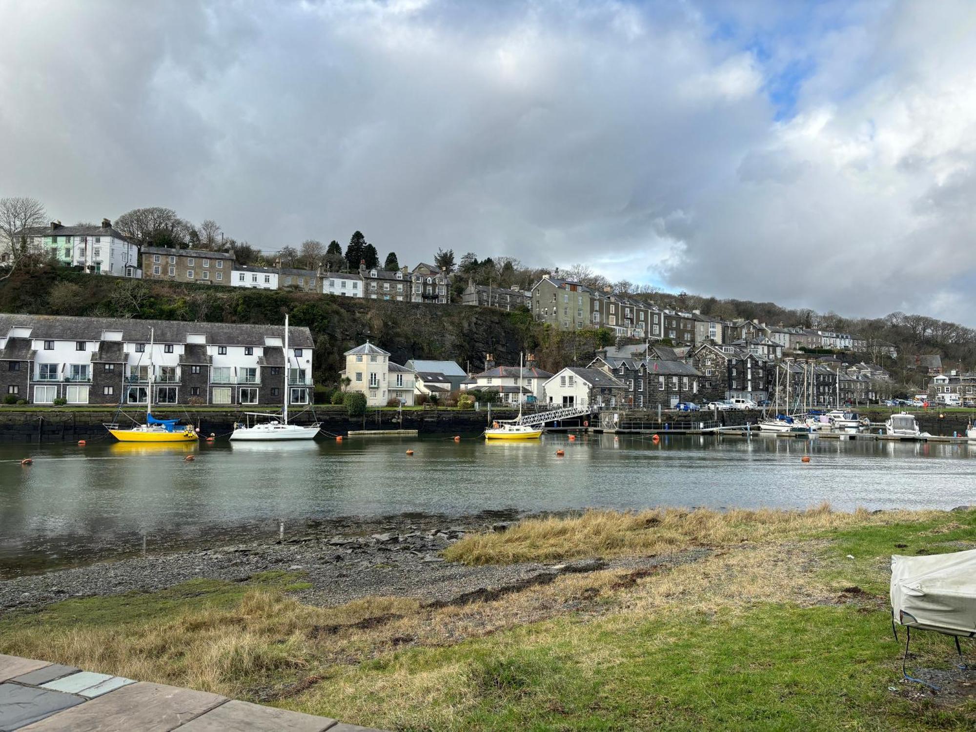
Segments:
[[[103,331],[122,331],[122,341],[126,343],[148,343],[150,328],[155,331],[156,343],[160,344],[184,344],[190,333],[204,336],[212,346],[264,346],[265,338],[284,336],[280,325],[0,313],[0,335],[16,327],[30,328],[32,339],[49,341],[102,341]],[[290,346],[314,346],[307,328],[293,325],[288,333]]]

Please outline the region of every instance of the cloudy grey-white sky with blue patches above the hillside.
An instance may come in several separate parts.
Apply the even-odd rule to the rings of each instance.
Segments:
[[[976,5],[3,0],[0,195],[976,324]]]

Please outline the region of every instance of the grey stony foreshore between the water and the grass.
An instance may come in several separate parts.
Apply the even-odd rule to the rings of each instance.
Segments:
[[[349,528],[354,523],[348,522]],[[340,605],[367,596],[416,597],[427,604],[462,604],[498,593],[550,582],[561,573],[604,568],[640,569],[689,561],[706,550],[673,557],[588,559],[553,565],[520,563],[466,566],[440,552],[472,531],[504,531],[506,521],[465,517],[400,518],[358,525],[359,533],[334,533],[335,524],[274,542],[201,547],[148,553],[0,581],[0,614],[37,609],[73,597],[110,596],[164,590],[192,579],[246,582],[268,571],[302,573],[311,587],[298,596],[307,603]],[[369,533],[365,533],[369,532]]]

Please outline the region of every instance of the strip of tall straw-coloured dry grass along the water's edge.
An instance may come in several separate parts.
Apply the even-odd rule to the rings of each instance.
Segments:
[[[579,516],[529,518],[504,533],[465,537],[444,552],[465,564],[510,564],[588,556],[661,554],[693,547],[737,547],[854,525],[917,521],[938,511],[834,511],[824,503],[805,510],[708,508],[588,510]]]

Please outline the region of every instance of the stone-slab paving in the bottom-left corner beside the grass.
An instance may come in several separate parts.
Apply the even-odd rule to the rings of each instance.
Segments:
[[[0,732],[379,732],[219,694],[0,654]]]

